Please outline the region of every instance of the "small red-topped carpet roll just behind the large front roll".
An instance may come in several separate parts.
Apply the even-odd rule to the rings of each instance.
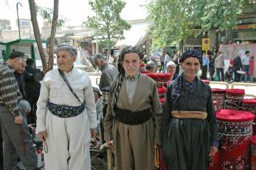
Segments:
[[[243,89],[226,89],[226,108],[240,110],[244,95]]]

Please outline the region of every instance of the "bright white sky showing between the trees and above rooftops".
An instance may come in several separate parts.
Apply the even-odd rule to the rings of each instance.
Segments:
[[[94,15],[89,7],[89,0],[59,0],[59,15],[66,18],[66,26],[78,26],[83,23],[88,15]],[[23,7],[18,7],[19,18],[30,18],[30,7],[27,0],[0,0],[0,19],[11,20],[15,29],[17,19],[16,3],[20,2]],[[53,0],[35,0],[41,7],[53,7]],[[125,0],[125,9],[121,16],[125,20],[145,18],[147,13],[142,7],[147,0]],[[38,23],[42,26],[42,18],[38,17]]]

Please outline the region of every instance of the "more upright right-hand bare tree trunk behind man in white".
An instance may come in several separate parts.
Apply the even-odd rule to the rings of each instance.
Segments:
[[[51,28],[51,37],[49,40],[49,62],[48,69],[52,70],[53,68],[53,53],[54,53],[54,44],[55,44],[55,34],[56,34],[56,26],[58,22],[58,4],[59,0],[54,1],[53,15],[52,15],[52,28]]]

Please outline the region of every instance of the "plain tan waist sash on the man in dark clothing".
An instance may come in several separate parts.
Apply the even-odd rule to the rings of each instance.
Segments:
[[[172,115],[175,118],[207,118],[207,113],[201,111],[173,110]]]

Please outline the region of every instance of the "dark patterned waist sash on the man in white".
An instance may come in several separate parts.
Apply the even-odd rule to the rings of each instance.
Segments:
[[[49,111],[60,118],[70,118],[75,117],[83,112],[86,102],[83,101],[80,106],[67,106],[67,105],[56,105],[52,102],[47,102]]]

